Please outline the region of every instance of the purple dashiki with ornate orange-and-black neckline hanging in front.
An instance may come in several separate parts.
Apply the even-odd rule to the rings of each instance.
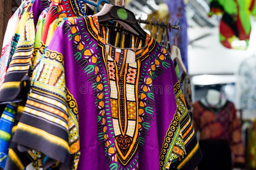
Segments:
[[[78,169],[169,168],[186,153],[179,122],[188,115],[170,60],[149,35],[142,41],[100,29],[96,16],[65,20],[32,76],[13,141],[66,167],[80,151]],[[170,93],[153,93],[154,86]]]

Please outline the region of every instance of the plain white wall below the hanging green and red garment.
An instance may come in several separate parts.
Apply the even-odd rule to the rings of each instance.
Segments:
[[[256,22],[252,21],[252,33],[247,50],[228,49],[220,44],[219,28],[188,28],[188,38],[195,39],[205,33],[212,35],[188,46],[188,70],[190,75],[234,74],[239,64],[256,54]],[[197,46],[204,46],[200,48]]]

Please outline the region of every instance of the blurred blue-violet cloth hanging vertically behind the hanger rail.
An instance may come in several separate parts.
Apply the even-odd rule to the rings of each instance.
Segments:
[[[185,4],[183,0],[166,0],[165,3],[169,8],[169,18],[172,19],[173,23],[179,20],[180,31],[172,30],[169,31],[170,43],[175,45],[177,37],[177,46],[180,48],[181,59],[184,66],[188,70],[188,35],[187,35],[187,19],[185,15]]]

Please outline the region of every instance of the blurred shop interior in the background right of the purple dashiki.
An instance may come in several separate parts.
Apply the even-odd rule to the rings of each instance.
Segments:
[[[21,1],[12,4],[14,13]],[[256,169],[256,1],[125,0],[124,7],[172,57],[203,155],[197,168]]]

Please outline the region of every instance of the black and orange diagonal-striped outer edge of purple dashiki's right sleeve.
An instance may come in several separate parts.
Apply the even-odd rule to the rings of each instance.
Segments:
[[[173,73],[175,70],[173,67],[171,67],[171,69]],[[173,165],[172,167],[170,167],[170,170],[196,169],[198,164],[201,162],[202,153],[198,144],[198,140],[196,138],[196,133],[193,123],[191,121],[191,117],[189,116],[188,109],[184,97],[182,95],[182,91],[177,76],[175,74],[172,74],[172,79],[174,82],[174,93],[177,104],[177,110],[180,113],[180,131],[183,138],[186,154],[184,155],[184,157],[180,157],[179,161],[173,162]]]

